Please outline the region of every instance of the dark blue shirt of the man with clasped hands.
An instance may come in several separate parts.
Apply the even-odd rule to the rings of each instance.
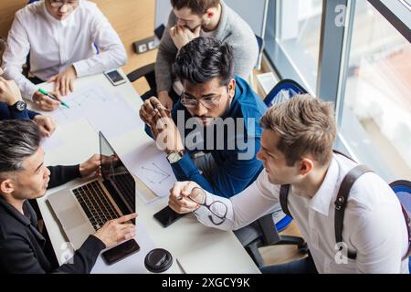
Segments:
[[[234,118],[236,132],[227,132],[227,127],[226,130],[221,130],[221,128],[214,130],[214,143],[210,143],[210,139],[206,137],[206,130],[204,130],[205,133],[195,143],[195,149],[185,145],[187,153],[180,161],[171,164],[177,180],[193,181],[206,191],[227,198],[247,188],[257,179],[262,170],[262,162],[257,160],[256,155],[260,147],[262,132],[259,120],[266,110],[267,106],[249,87],[247,81],[236,77],[234,99],[227,112],[221,117],[222,120]],[[178,125],[178,111],[180,111],[180,115],[184,112],[185,125],[186,120],[192,116],[181,102],[177,102],[172,111],[176,125]],[[181,133],[184,141],[188,141],[187,135],[193,134],[194,130],[197,130],[196,127],[193,128],[184,129],[184,133]],[[147,127],[146,131],[151,135],[151,131]],[[216,147],[217,144],[219,147]],[[191,152],[198,150],[211,153],[216,162],[216,171],[213,172],[211,182],[207,181],[205,176],[201,174],[190,157]]]

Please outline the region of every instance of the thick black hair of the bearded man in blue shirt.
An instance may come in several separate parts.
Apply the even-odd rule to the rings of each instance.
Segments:
[[[234,78],[233,47],[211,37],[197,37],[181,48],[174,71],[180,80],[202,84],[220,78],[227,86]]]

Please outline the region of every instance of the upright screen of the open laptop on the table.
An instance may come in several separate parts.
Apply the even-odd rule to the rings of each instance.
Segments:
[[[121,162],[120,157],[112,149],[110,143],[100,132],[100,162],[101,175],[105,183],[110,183],[115,194],[118,194],[121,202],[127,207],[127,210],[121,210],[123,214],[135,212],[135,182],[132,174],[127,170]],[[111,192],[113,199],[118,202]],[[121,203],[118,203],[121,208]],[[123,208],[121,208],[123,209]]]

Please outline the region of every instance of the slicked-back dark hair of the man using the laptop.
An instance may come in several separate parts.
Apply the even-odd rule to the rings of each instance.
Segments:
[[[41,141],[37,124],[31,120],[1,120],[0,137],[0,174],[23,170],[23,162]]]

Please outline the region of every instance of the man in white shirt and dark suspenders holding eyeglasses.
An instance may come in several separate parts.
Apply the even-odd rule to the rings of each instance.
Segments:
[[[280,185],[290,184],[290,214],[311,255],[263,267],[263,273],[408,273],[408,234],[401,204],[374,172],[364,173],[353,184],[340,243],[345,255],[339,252],[334,202],[342,179],[356,163],[332,152],[336,137],[332,104],[297,96],[271,107],[261,125],[258,159],[265,171],[255,183],[231,199],[206,193],[193,182],[175,183],[169,196],[174,211],[194,212],[205,225],[237,230],[268,214],[279,203]],[[349,258],[348,251],[355,252],[356,259]]]

